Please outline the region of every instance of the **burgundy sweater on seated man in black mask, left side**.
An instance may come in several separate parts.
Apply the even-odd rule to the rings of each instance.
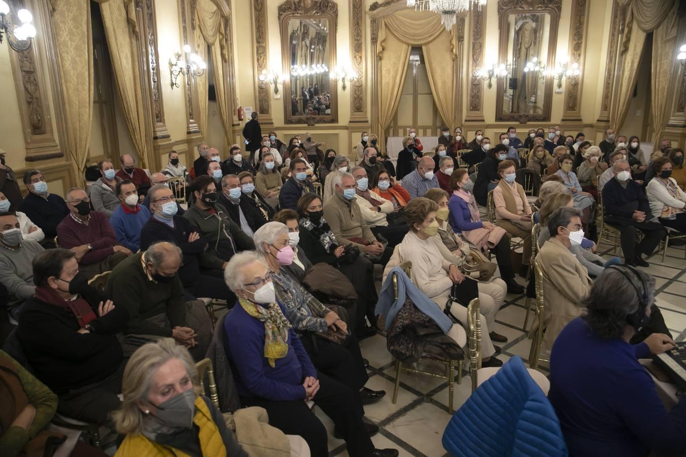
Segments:
[[[107,221],[104,213],[91,211],[91,220],[88,225],[74,221],[71,214],[67,214],[60,225],[57,226],[57,236],[60,247],[71,249],[75,246],[91,245],[93,251],[87,252],[82,258],[82,265],[90,265],[100,262],[114,254],[114,246],[117,244],[117,235],[112,225]]]

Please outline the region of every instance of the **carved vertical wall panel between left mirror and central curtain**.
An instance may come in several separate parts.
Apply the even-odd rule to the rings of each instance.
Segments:
[[[364,53],[364,0],[351,0],[350,5],[350,55],[353,70],[358,78],[351,84],[351,122],[367,122],[366,104],[364,103],[364,81],[366,77],[366,60]]]

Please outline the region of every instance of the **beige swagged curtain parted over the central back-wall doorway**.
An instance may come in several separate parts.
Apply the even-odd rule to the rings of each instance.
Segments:
[[[401,10],[379,21],[379,136],[385,144],[385,132],[398,109],[407,75],[410,48],[421,46],[434,101],[445,125],[455,123],[455,58],[453,38],[431,12]],[[446,51],[450,50],[450,58]]]

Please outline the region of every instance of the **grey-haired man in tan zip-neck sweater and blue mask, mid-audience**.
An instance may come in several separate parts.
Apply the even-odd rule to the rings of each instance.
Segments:
[[[392,248],[384,247],[369,229],[355,196],[357,182],[350,173],[341,173],[334,179],[335,195],[324,204],[324,219],[341,246],[354,245],[361,254],[367,254],[373,263],[385,265]]]

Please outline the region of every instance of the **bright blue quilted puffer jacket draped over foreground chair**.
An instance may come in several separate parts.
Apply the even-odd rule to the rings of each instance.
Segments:
[[[555,411],[515,356],[479,386],[443,433],[451,456],[567,456]]]

